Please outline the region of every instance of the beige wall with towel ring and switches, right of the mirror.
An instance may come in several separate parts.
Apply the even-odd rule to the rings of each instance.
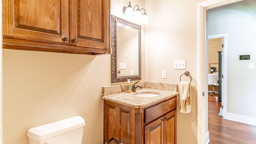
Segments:
[[[192,112],[178,114],[178,144],[197,142],[197,3],[204,0],[146,0],[146,80],[177,83],[185,70],[174,70],[174,60],[186,60],[192,76]],[[167,78],[162,78],[162,70]],[[186,77],[182,77],[185,80]],[[178,96],[178,99],[180,96]],[[179,100],[177,100],[179,102]]]

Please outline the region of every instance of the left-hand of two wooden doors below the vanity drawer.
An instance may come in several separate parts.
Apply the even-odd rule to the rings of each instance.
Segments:
[[[159,118],[145,126],[145,144],[164,144],[163,118]]]

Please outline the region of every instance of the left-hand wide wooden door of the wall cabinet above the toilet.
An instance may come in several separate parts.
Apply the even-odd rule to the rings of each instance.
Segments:
[[[68,0],[3,0],[3,35],[68,44]]]

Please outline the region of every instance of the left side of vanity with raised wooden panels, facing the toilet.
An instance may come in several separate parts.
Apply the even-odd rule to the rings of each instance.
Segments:
[[[134,110],[135,108],[104,100],[104,142],[113,137],[123,144],[134,144]]]

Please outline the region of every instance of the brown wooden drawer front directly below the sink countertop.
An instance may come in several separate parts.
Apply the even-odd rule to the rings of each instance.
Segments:
[[[147,108],[145,110],[145,123],[147,124],[156,118],[160,118],[174,108],[176,108],[176,98],[172,98],[166,102]]]

